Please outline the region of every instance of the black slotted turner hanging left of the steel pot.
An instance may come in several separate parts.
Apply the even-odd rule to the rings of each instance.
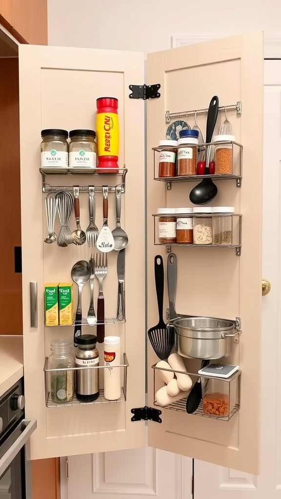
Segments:
[[[167,328],[163,321],[164,267],[163,258],[157,254],[154,257],[154,276],[157,295],[159,322],[148,330],[151,346],[160,360],[166,360],[173,347],[174,331]]]

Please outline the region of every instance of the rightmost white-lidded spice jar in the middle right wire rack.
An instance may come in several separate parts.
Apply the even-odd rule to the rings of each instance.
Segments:
[[[233,206],[216,206],[212,208],[212,244],[232,245],[232,217]]]

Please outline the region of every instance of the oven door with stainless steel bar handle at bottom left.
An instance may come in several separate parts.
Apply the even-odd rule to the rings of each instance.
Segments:
[[[23,419],[0,446],[0,499],[29,499],[25,444],[36,429],[35,419]]]

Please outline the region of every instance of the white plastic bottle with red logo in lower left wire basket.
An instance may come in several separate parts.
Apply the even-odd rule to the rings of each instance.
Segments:
[[[105,336],[103,341],[104,365],[104,398],[116,400],[121,396],[120,382],[120,338],[119,336]]]

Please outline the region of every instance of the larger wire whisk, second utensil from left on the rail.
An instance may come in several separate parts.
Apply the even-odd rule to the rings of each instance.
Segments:
[[[71,194],[64,191],[59,191],[56,194],[57,213],[60,222],[60,230],[57,237],[58,246],[65,247],[73,243],[73,238],[68,224],[73,211],[73,198]]]

